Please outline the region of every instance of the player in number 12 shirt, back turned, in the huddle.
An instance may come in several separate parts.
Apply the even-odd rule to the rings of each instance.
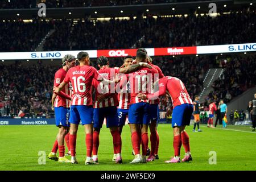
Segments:
[[[136,55],[137,63],[147,61],[147,54],[139,51]],[[129,106],[129,126],[131,130],[131,140],[135,158],[131,163],[146,163],[146,153],[148,147],[148,125],[150,124],[150,104],[148,100],[141,100],[137,97],[138,93],[150,93],[152,82],[154,82],[157,71],[152,68],[142,68],[129,74],[129,84],[131,100]],[[121,81],[122,82],[122,81]],[[142,156],[139,154],[139,148],[142,143]]]

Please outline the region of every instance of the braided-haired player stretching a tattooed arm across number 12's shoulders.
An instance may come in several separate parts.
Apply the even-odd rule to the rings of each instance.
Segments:
[[[125,68],[109,68],[108,58],[100,56],[97,59],[97,64],[100,70],[100,75],[108,80],[113,80],[118,73],[130,73],[134,72],[141,67],[150,67],[148,64],[136,64]],[[93,81],[94,88],[96,88],[96,96],[94,102],[94,113],[93,113],[93,160],[98,162],[98,147],[99,147],[99,134],[106,118],[106,126],[110,129],[113,137],[114,154],[116,154],[115,163],[122,163],[121,158],[121,134],[118,130],[118,98],[115,92],[115,85],[104,85],[96,80]],[[106,96],[104,99],[98,100],[99,96]]]

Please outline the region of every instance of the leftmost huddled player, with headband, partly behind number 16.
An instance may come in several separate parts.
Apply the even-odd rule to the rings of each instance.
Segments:
[[[60,68],[55,73],[54,86],[59,86],[60,83],[64,80],[68,70],[75,66],[75,56],[65,55],[62,59],[63,68]],[[59,127],[59,133],[57,134],[57,139],[53,144],[52,151],[48,155],[49,159],[57,160],[56,152],[59,148],[59,162],[70,162],[68,159],[64,158],[65,155],[65,146],[64,139],[67,143],[69,151],[69,107],[71,100],[71,88],[69,85],[66,85],[63,91],[59,93],[53,93],[52,95],[52,107],[55,111],[55,120],[56,126]]]

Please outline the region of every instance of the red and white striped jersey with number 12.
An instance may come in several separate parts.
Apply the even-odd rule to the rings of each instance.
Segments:
[[[130,104],[139,102],[148,102],[149,100],[141,100],[137,97],[138,93],[148,94],[152,93],[155,74],[158,73],[154,68],[141,68],[138,71],[129,74],[129,84],[131,100]]]

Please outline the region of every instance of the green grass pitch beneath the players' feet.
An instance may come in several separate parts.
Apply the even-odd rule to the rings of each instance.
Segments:
[[[126,125],[122,133],[123,164],[115,164],[112,162],[112,136],[104,125],[98,150],[100,164],[85,166],[85,134],[84,127],[81,125],[77,135],[79,164],[58,163],[47,158],[57,134],[57,127],[54,125],[0,126],[0,154],[2,156],[0,170],[256,170],[256,133],[249,132],[250,126],[228,126],[228,130],[225,130],[210,129],[201,125],[201,129],[203,130],[201,133],[192,133],[192,126],[187,127],[191,142],[192,162],[164,163],[164,160],[174,155],[173,133],[170,124],[160,124],[158,126],[160,159],[146,164],[129,164],[134,156],[131,155],[130,129]],[[46,152],[46,164],[38,164],[39,151]],[[210,151],[216,152],[217,164],[209,164]],[[183,155],[184,148],[182,147],[181,157]]]

